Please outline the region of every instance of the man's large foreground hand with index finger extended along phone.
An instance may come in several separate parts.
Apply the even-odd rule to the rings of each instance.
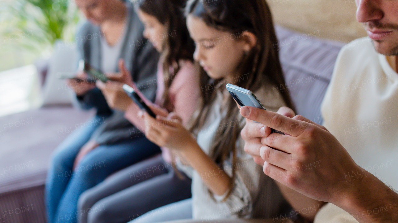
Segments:
[[[242,130],[245,151],[266,175],[310,198],[342,199],[354,185],[347,175],[362,171],[331,133],[301,115],[290,118],[250,106],[240,113],[259,122],[248,121]]]

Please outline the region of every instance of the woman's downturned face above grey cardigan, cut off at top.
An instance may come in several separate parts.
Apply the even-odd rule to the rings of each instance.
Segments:
[[[101,24],[109,17],[109,0],[75,0],[76,6],[94,24]]]

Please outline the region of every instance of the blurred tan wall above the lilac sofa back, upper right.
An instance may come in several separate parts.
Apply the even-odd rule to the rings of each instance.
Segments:
[[[266,0],[275,23],[308,36],[351,42],[365,37],[355,0]]]

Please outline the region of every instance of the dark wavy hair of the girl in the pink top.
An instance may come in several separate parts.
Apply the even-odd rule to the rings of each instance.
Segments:
[[[181,60],[193,62],[195,44],[189,37],[183,8],[186,0],[135,0],[134,5],[142,12],[152,15],[160,23],[166,25],[167,33],[164,33],[162,41],[161,60],[163,60],[164,93],[160,106],[172,112],[172,104],[168,96],[168,89],[176,73],[180,69]],[[170,67],[173,67],[170,70]]]

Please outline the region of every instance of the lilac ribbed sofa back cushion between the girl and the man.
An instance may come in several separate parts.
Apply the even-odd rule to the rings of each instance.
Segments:
[[[341,42],[275,26],[279,57],[297,113],[322,124],[320,105],[332,77]],[[274,44],[274,46],[276,46]]]

